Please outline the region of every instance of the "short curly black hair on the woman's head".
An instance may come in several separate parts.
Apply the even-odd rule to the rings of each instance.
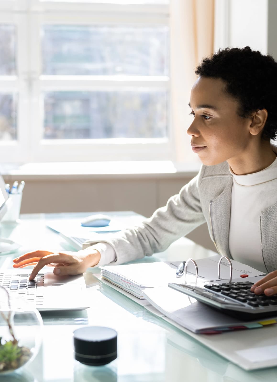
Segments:
[[[256,110],[266,109],[262,137],[277,138],[277,62],[272,56],[250,47],[219,49],[204,58],[195,73],[222,79],[226,92],[238,100],[240,117],[248,118]]]

